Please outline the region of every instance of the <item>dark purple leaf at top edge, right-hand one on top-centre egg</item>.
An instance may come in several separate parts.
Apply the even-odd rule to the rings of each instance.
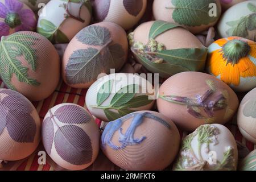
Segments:
[[[138,16],[143,7],[142,0],[123,0],[123,6],[126,11],[133,16]]]

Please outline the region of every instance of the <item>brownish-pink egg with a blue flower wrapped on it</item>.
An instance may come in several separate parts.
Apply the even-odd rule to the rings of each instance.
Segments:
[[[138,111],[106,125],[101,149],[117,166],[129,171],[162,170],[179,151],[177,127],[160,113]]]

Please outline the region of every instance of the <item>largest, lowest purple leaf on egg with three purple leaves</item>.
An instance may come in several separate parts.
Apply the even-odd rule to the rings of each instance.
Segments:
[[[61,158],[74,165],[92,162],[93,148],[90,137],[80,127],[60,127],[54,138],[55,148]]]

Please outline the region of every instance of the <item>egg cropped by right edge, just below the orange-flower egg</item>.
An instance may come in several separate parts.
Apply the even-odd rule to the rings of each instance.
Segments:
[[[256,144],[256,88],[243,98],[237,113],[237,125],[243,137]]]

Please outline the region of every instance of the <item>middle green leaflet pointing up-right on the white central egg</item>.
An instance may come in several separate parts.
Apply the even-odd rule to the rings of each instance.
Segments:
[[[126,104],[129,102],[136,93],[138,93],[139,90],[139,85],[137,84],[132,84],[132,85],[127,85],[118,90],[117,93],[115,93],[114,97],[112,98],[110,105],[113,107],[118,107],[123,104]]]

